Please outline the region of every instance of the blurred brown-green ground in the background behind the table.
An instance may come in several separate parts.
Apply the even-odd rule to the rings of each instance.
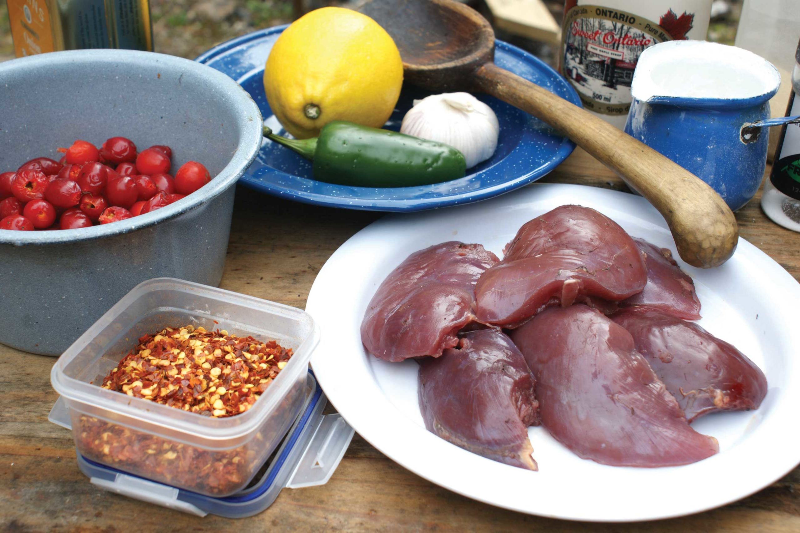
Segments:
[[[291,22],[295,5],[310,9],[341,3],[326,0],[150,0],[155,50],[195,58],[219,42]],[[467,3],[489,15],[482,0],[468,0]],[[560,20],[563,2],[546,0],[546,3]],[[730,5],[729,14],[711,22],[710,40],[733,43],[741,0],[730,2]],[[498,38],[509,40],[545,61],[553,61],[554,50],[550,46],[502,33],[498,33]],[[0,60],[13,55],[6,2],[0,0]]]

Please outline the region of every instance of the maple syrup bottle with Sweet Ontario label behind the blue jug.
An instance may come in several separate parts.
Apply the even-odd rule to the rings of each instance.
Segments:
[[[711,0],[566,0],[559,70],[583,106],[622,129],[639,54],[658,42],[706,38]]]

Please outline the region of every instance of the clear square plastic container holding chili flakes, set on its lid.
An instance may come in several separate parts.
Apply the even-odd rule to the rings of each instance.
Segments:
[[[292,348],[289,363],[241,415],[216,419],[102,389],[146,333],[226,329]],[[298,417],[319,332],[305,311],[179,279],[134,287],[58,359],[50,373],[70,412],[78,453],[171,487],[222,497],[241,491]]]

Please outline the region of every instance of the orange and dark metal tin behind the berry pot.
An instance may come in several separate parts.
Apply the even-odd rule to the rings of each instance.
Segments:
[[[56,50],[153,50],[149,0],[6,0],[17,57]]]

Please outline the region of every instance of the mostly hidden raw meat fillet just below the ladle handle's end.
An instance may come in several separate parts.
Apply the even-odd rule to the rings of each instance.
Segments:
[[[700,300],[694,282],[672,258],[672,252],[641,238],[634,238],[645,254],[647,284],[644,290],[619,303],[619,307],[648,306],[679,319],[700,318]]]

